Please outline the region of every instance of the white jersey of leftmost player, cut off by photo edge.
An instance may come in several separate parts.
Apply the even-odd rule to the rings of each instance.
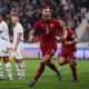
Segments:
[[[9,41],[9,29],[4,21],[0,22],[0,39],[6,39]]]

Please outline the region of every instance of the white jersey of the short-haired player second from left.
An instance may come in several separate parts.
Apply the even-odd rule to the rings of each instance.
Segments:
[[[21,23],[18,22],[13,28],[13,44],[16,44],[17,37],[19,33],[21,33],[20,41],[23,42],[23,28],[22,28]]]

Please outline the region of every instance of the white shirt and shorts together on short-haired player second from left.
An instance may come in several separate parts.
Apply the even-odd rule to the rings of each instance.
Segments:
[[[21,23],[18,22],[13,28],[13,48],[16,46],[17,37],[19,33],[21,33],[20,42],[18,44],[17,51],[13,52],[13,57],[16,57],[18,60],[23,59],[23,28]]]

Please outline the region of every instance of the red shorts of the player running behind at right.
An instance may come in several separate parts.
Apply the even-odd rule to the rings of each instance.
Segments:
[[[59,57],[65,57],[66,59],[76,59],[76,50],[71,50],[71,51],[68,51],[68,50],[61,50]]]

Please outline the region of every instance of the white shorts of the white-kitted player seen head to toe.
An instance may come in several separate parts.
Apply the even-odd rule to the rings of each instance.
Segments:
[[[13,48],[14,48],[14,44],[13,44]],[[23,42],[20,42],[18,44],[17,51],[13,52],[13,57],[18,60],[23,59]]]

